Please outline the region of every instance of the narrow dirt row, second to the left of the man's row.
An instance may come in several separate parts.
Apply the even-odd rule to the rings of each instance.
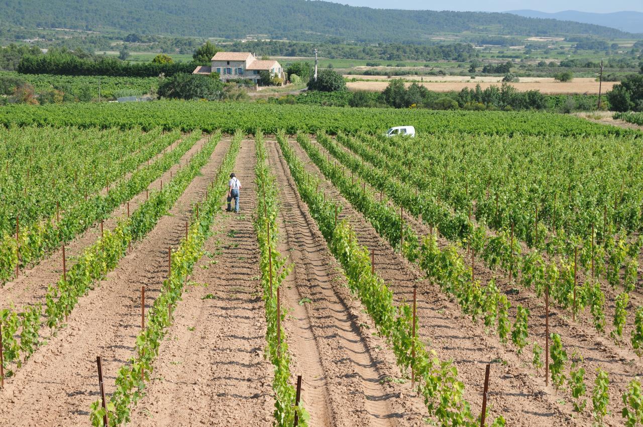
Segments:
[[[197,141],[190,147],[190,150],[181,157],[179,163],[185,166],[186,161],[200,149],[204,141],[205,140]],[[174,148],[176,149],[176,144]],[[162,176],[150,183],[148,186],[149,190],[158,190],[161,186],[161,181],[168,183],[170,181],[170,174],[174,176],[177,170],[179,170],[179,163],[172,165]],[[152,163],[150,162],[150,164]],[[129,200],[129,212],[134,212],[138,206],[145,203],[145,198],[145,190],[132,197],[132,199]],[[103,221],[104,230],[114,230],[118,221],[121,221],[125,217],[127,217],[127,202],[114,209],[109,218]],[[84,233],[77,235],[73,241],[65,246],[68,271],[76,264],[78,256],[82,255],[82,253],[98,239],[100,239],[100,221],[89,226]],[[32,268],[26,268],[21,271],[17,279],[7,282],[2,289],[0,308],[9,307],[10,304],[14,304],[14,306],[18,308],[39,302],[44,304],[47,287],[50,284],[55,284],[61,276],[62,248],[53,251]]]

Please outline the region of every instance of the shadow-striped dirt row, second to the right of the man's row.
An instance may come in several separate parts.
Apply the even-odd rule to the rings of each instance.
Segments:
[[[542,372],[530,368],[516,355],[511,345],[505,347],[496,335],[486,334],[484,325],[473,323],[453,300],[442,294],[437,285],[424,280],[421,271],[396,253],[368,220],[325,179],[296,140],[290,143],[307,165],[307,170],[321,179],[320,191],[340,203],[340,218],[349,220],[360,244],[374,250],[376,273],[394,291],[395,301],[410,302],[413,285],[417,284],[419,336],[441,360],[453,359],[458,368],[458,379],[466,386],[464,395],[473,413],[478,414],[482,410],[484,369],[486,363],[491,363],[489,413],[492,417],[503,415],[507,425],[511,426],[586,425],[590,422],[586,417],[572,419],[570,406],[557,403],[561,395],[554,395],[553,388],[545,388]],[[324,152],[320,145],[318,147]]]

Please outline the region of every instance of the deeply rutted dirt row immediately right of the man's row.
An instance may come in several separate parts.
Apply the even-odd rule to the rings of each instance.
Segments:
[[[280,251],[294,263],[283,283],[293,309],[285,322],[293,375],[303,374],[302,399],[311,426],[419,426],[426,410],[409,398],[392,354],[349,295],[276,141],[267,141],[279,189]],[[309,298],[311,302],[302,302]],[[301,302],[301,304],[300,304]]]

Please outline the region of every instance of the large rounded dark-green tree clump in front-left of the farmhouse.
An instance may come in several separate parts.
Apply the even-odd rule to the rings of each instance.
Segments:
[[[220,100],[223,83],[210,76],[177,73],[161,82],[158,93],[164,98]]]

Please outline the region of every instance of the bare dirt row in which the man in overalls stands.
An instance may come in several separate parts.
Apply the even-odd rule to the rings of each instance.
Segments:
[[[271,425],[273,367],[263,356],[266,321],[252,221],[254,163],[254,141],[244,140],[235,168],[242,214],[215,219],[132,426]]]

